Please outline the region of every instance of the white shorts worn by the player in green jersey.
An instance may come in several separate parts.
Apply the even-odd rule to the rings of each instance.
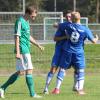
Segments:
[[[16,60],[16,70],[24,71],[28,69],[33,69],[31,55],[30,54],[22,54],[20,59]]]

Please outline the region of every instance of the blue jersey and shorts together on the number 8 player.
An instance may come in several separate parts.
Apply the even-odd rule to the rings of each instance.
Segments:
[[[75,68],[85,68],[84,57],[84,40],[87,38],[90,41],[94,36],[91,31],[80,24],[64,23],[63,30],[59,32],[65,32],[69,39],[63,44],[63,52],[60,61],[60,67],[67,69],[73,65]]]

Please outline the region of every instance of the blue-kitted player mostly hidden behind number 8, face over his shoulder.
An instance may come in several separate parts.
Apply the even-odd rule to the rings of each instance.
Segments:
[[[71,22],[71,13],[67,13],[66,14],[66,20],[68,22]],[[63,23],[56,24],[56,28],[61,27]],[[59,28],[58,28],[59,29]],[[52,58],[52,62],[51,62],[51,68],[50,71],[47,75],[47,79],[46,79],[46,84],[45,84],[45,88],[44,88],[44,94],[48,94],[48,87],[49,84],[54,76],[54,74],[56,73],[58,67],[59,67],[59,62],[60,62],[60,58],[61,58],[61,53],[62,53],[62,46],[63,43],[65,42],[65,40],[67,39],[66,35],[63,33],[60,33],[59,30],[55,33],[54,36],[54,41],[56,41],[56,45],[55,45],[55,52]]]

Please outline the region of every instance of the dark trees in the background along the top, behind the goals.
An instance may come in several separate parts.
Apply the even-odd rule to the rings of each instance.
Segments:
[[[0,0],[0,11],[21,11],[23,0]],[[73,11],[74,0],[25,0],[25,5],[36,4],[39,11]],[[100,0],[76,0],[76,10],[89,22],[100,23]]]

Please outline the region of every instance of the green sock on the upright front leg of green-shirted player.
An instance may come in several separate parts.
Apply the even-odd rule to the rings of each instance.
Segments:
[[[35,91],[34,91],[34,82],[33,82],[32,74],[26,75],[26,83],[30,92],[30,96],[34,96]]]

